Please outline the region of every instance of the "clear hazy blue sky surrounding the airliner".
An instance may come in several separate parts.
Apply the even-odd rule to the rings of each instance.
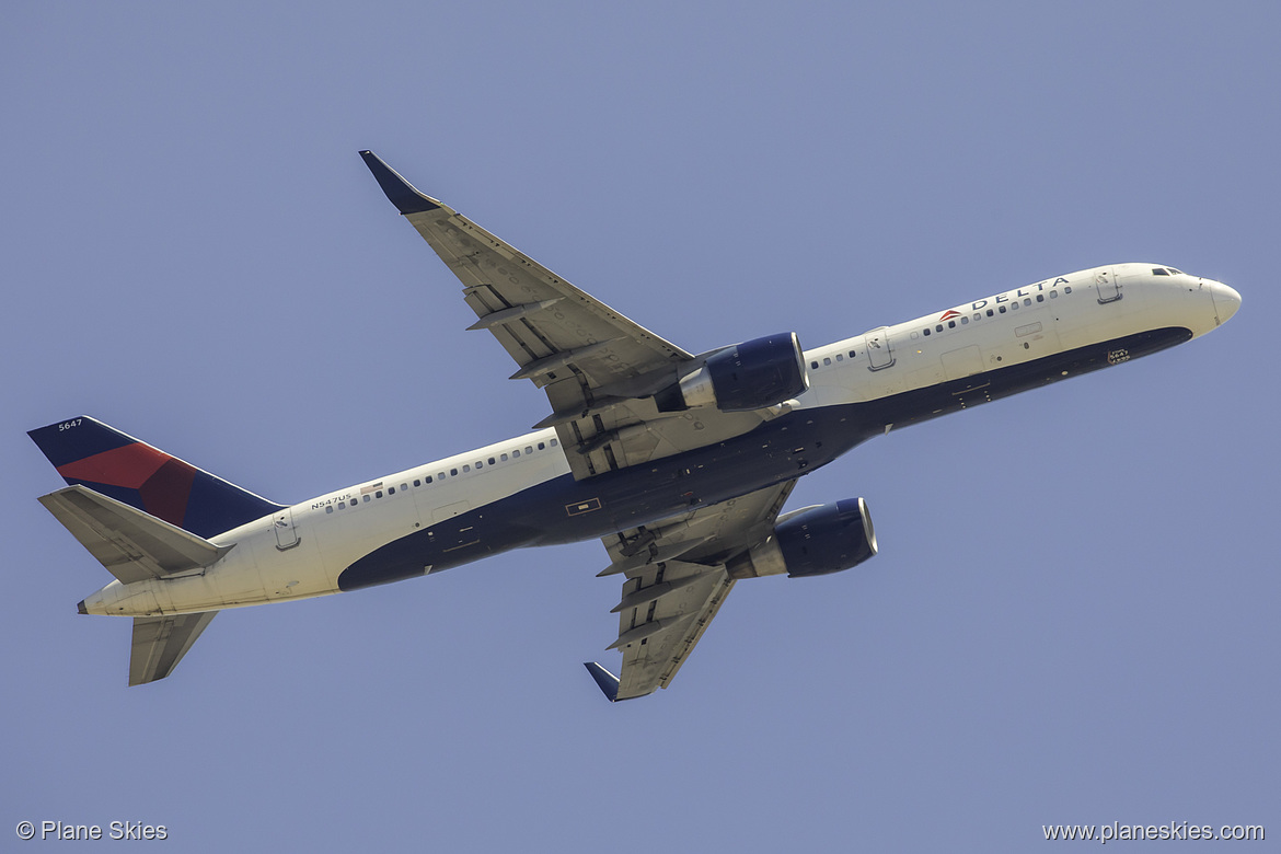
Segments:
[[[1281,835],[1273,4],[28,4],[0,29],[0,839],[172,850],[1027,850]],[[388,205],[424,192],[690,351],[1082,268],[1225,329],[876,439],[881,553],[742,584],[611,707],[600,543],[227,612],[126,689],[24,431],[90,414],[282,502],[546,415]],[[1273,827],[1276,826],[1276,827]],[[1214,845],[1208,845],[1207,850]]]

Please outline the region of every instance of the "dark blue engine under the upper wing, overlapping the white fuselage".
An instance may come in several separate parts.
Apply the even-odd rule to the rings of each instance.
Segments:
[[[807,388],[801,342],[794,332],[783,332],[712,353],[702,367],[655,399],[665,412],[696,406],[746,412],[781,403]]]

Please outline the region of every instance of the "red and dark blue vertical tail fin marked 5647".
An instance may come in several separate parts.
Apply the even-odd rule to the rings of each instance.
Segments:
[[[282,507],[88,416],[27,435],[69,485],[83,484],[197,536],[222,534]]]

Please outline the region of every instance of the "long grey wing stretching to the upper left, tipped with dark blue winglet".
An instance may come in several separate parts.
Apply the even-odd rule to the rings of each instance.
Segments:
[[[516,362],[511,379],[547,392],[576,479],[721,442],[762,421],[756,412],[660,412],[652,394],[694,356],[579,291],[443,202],[424,196],[371,151],[383,192],[462,282],[477,315]]]

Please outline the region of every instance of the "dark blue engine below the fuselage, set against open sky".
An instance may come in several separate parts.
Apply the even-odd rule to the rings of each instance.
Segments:
[[[731,558],[734,579],[781,575],[799,579],[858,566],[876,554],[876,530],[862,498],[806,507],[781,516],[760,545]]]

